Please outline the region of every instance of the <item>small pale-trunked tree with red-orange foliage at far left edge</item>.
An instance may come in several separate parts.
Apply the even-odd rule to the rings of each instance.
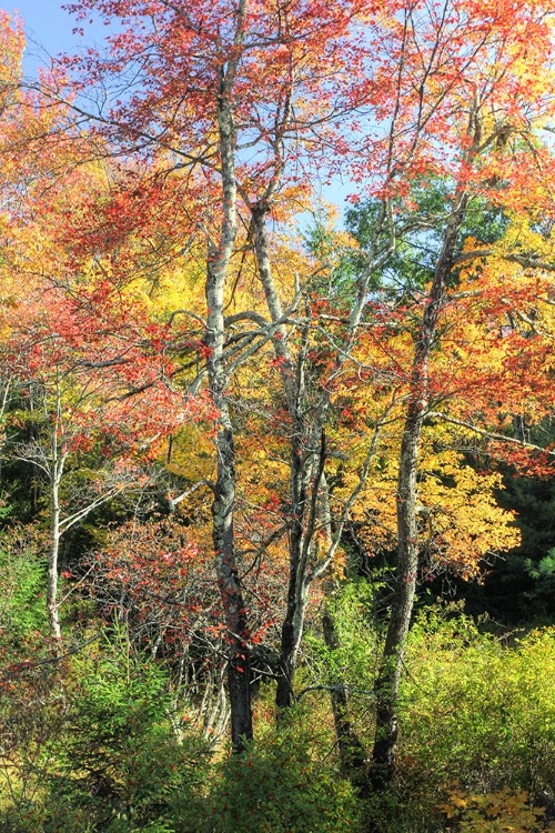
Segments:
[[[0,261],[4,411],[12,392],[4,455],[47,484],[47,609],[57,640],[62,536],[131,484],[144,485],[141,461],[191,404],[172,387],[168,328],[149,320],[144,302],[101,260],[99,212],[110,173],[88,163],[91,145],[65,116],[14,82],[0,126],[9,220]],[[94,237],[82,248],[77,229],[87,225],[91,203]],[[130,247],[118,254],[129,269]],[[94,458],[103,464],[93,472]]]

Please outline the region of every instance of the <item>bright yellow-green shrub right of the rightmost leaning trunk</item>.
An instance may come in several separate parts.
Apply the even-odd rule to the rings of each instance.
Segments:
[[[432,618],[434,614],[431,614]],[[555,787],[555,629],[503,648],[466,616],[418,622],[401,690],[402,754],[428,787]]]

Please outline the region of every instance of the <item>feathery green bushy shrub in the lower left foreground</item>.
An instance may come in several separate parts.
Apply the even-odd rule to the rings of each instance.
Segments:
[[[79,659],[73,673],[44,833],[198,833],[210,750],[186,732],[178,741],[163,669],[121,643]]]

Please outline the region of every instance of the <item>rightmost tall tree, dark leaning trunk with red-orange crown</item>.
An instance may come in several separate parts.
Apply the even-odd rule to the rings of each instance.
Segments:
[[[441,173],[451,187],[444,214],[435,217],[431,227],[440,245],[431,280],[425,291],[416,294],[411,328],[414,350],[406,373],[396,494],[396,588],[376,683],[376,783],[389,780],[394,765],[395,703],[418,565],[416,495],[422,431],[435,411],[434,402],[446,393],[434,385],[431,368],[441,343],[441,322],[461,300],[455,271],[465,260],[464,255],[457,259],[461,232],[476,199],[526,211],[533,203],[524,200],[525,189],[534,199],[541,195],[541,159],[547,150],[539,147],[532,124],[546,113],[544,73],[549,60],[544,9],[535,4],[523,3],[516,16],[513,7],[481,11],[464,3],[433,10],[411,7],[395,21],[392,32],[389,37],[395,47],[387,54],[395,56],[391,68],[395,71],[390,78],[404,94],[392,99],[397,104],[389,110],[393,129],[387,141],[375,144],[376,151],[383,151],[379,189],[383,193],[381,211],[389,219],[385,227],[376,223],[380,231],[373,235],[372,247],[387,229],[393,240],[397,237],[400,224],[392,198],[406,194],[410,199],[411,178],[425,181]],[[541,68],[537,74],[524,59],[531,39],[538,50],[534,62]],[[536,93],[531,99],[532,89]]]

